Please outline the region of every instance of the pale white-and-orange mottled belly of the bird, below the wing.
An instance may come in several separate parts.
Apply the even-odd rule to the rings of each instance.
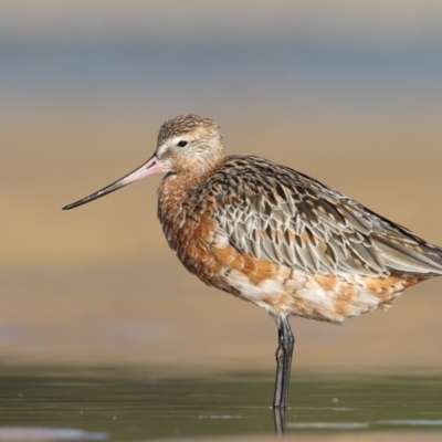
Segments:
[[[232,270],[225,281],[232,293],[274,315],[343,323],[378,307],[387,308],[418,277],[308,275],[281,269],[272,278],[251,281]]]

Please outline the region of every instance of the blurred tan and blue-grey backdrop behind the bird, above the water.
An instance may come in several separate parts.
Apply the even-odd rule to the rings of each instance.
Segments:
[[[168,250],[145,161],[197,113],[442,244],[440,0],[2,0],[0,360],[273,369],[276,329]],[[294,370],[439,367],[442,280],[343,326],[293,318]]]

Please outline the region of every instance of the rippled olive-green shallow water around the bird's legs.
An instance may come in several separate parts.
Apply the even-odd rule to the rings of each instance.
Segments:
[[[287,427],[296,440],[341,433],[442,440],[440,373],[295,375],[292,382]],[[0,441],[233,440],[275,431],[271,373],[3,370],[0,389]]]

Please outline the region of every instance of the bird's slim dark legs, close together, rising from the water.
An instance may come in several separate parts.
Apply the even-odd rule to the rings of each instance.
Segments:
[[[277,325],[278,346],[276,349],[276,380],[273,409],[288,407],[288,385],[295,338],[286,316],[274,316]]]

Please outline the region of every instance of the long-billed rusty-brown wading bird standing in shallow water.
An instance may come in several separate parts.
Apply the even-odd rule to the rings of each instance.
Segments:
[[[276,323],[274,410],[288,407],[291,316],[341,324],[442,275],[441,248],[290,167],[227,156],[220,127],[193,114],[164,123],[140,167],[63,209],[157,172],[158,219],[185,267]]]

